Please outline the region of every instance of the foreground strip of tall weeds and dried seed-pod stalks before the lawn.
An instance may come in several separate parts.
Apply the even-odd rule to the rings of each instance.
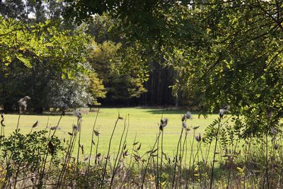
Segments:
[[[26,107],[25,107],[26,108]],[[30,133],[21,134],[21,127],[11,136],[1,136],[1,187],[2,188],[280,188],[282,183],[282,132],[272,127],[262,138],[243,138],[231,127],[242,124],[229,107],[219,111],[219,118],[207,127],[204,136],[197,134],[200,126],[187,126],[192,114],[180,117],[180,137],[175,155],[163,151],[163,137],[168,118],[156,127],[158,134],[149,151],[141,153],[138,137],[127,139],[129,115],[117,115],[112,136],[118,122],[124,122],[119,148],[115,154],[99,152],[100,133],[96,127],[99,110],[93,123],[87,154],[81,144],[83,115],[74,111],[76,125],[69,139],[59,140],[56,131],[64,116],[50,131],[33,131],[38,121],[30,126]],[[272,120],[272,115],[267,115]],[[4,120],[4,115],[1,115]],[[19,119],[20,120],[20,119]],[[231,122],[229,121],[231,120]],[[20,120],[21,121],[21,120]],[[4,121],[1,127],[5,127]],[[19,124],[18,124],[19,125]],[[3,129],[3,128],[2,128]],[[192,132],[192,139],[187,134]],[[74,147],[79,150],[74,154]],[[92,150],[93,149],[93,150]],[[83,158],[82,158],[83,157]]]

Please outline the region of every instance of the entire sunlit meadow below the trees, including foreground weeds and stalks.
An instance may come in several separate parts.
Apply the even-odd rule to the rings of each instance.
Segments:
[[[5,159],[2,167],[6,171],[0,176],[0,185],[14,188],[282,185],[280,174],[267,177],[281,170],[282,139],[278,130],[272,129],[270,137],[241,139],[231,130],[241,123],[233,122],[231,115],[224,115],[227,112],[224,109],[205,118],[187,110],[158,108],[79,111],[82,118],[71,111],[64,116],[4,115],[1,158]],[[80,130],[74,129],[78,121]],[[20,131],[13,132],[17,125]],[[42,135],[42,130],[47,132]],[[61,142],[50,137],[52,133]]]

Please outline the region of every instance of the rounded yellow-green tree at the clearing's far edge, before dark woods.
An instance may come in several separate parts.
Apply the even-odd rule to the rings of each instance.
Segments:
[[[146,91],[146,66],[131,47],[122,50],[121,43],[111,41],[94,45],[88,60],[108,92],[105,101],[125,102]]]

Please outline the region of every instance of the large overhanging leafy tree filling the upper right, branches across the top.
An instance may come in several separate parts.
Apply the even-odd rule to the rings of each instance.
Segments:
[[[156,55],[164,52],[168,61],[161,64],[176,71],[175,95],[199,96],[209,112],[231,105],[233,114],[246,118],[243,136],[266,130],[270,111],[276,112],[272,118],[278,126],[282,1],[79,2],[70,3],[70,17],[82,21],[110,11],[121,19],[116,28],[125,39],[141,42]]]

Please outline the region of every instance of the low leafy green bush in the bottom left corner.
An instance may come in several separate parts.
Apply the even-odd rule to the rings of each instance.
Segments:
[[[6,178],[14,178],[15,186],[21,177],[30,176],[30,181],[35,181],[47,151],[52,150],[53,165],[58,166],[59,153],[64,151],[64,147],[57,137],[49,138],[46,134],[46,130],[29,134],[21,134],[16,130],[11,136],[1,138],[1,162],[6,164],[2,166],[6,166]],[[49,143],[53,149],[47,145]]]

